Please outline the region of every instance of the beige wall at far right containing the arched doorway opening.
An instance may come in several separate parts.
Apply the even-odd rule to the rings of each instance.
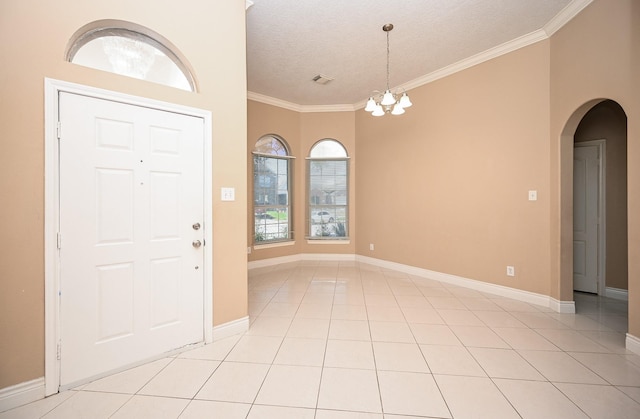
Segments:
[[[640,3],[596,0],[551,38],[552,295],[572,293],[573,140],[603,99],[627,115],[629,333],[640,336]]]

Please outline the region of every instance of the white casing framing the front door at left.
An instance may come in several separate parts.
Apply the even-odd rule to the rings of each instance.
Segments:
[[[45,396],[57,393],[60,385],[59,318],[59,177],[58,177],[58,96],[69,92],[98,99],[127,103],[202,118],[204,121],[204,340],[213,341],[213,162],[212,117],[203,109],[112,92],[94,87],[45,78]],[[160,354],[159,354],[160,355]]]

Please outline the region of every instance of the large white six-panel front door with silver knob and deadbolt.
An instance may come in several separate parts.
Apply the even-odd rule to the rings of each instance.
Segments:
[[[68,387],[203,341],[204,123],[72,93],[59,110]]]

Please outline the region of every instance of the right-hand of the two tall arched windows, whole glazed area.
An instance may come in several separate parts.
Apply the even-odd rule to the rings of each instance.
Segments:
[[[309,239],[349,238],[349,156],[336,140],[318,141],[307,159]]]

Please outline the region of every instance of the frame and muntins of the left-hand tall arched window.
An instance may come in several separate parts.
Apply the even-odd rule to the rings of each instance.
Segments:
[[[279,155],[279,154],[269,154],[269,153],[264,153],[264,152],[260,152],[260,151],[256,151],[255,148],[257,147],[258,143],[266,138],[271,138],[274,139],[276,141],[278,141],[281,145],[282,145],[282,149],[286,152],[286,155]],[[260,137],[257,141],[256,141],[256,145],[254,146],[254,150],[251,152],[251,157],[252,157],[252,174],[253,174],[253,184],[252,184],[252,198],[251,198],[251,202],[252,202],[252,209],[253,209],[253,233],[252,233],[252,242],[254,246],[268,246],[268,245],[272,245],[272,244],[278,244],[278,243],[289,243],[289,242],[293,242],[295,239],[295,235],[294,235],[294,230],[293,230],[293,161],[295,160],[295,156],[291,155],[290,152],[290,148],[289,145],[287,144],[287,142],[280,137],[279,135],[275,135],[275,134],[267,134],[267,135],[263,135],[262,137]],[[256,201],[256,187],[257,187],[257,173],[256,173],[256,157],[262,157],[265,159],[273,159],[276,161],[276,164],[278,161],[285,161],[286,162],[286,167],[287,167],[287,203],[286,204],[269,204],[269,205],[264,205],[264,204],[257,204]],[[276,173],[275,176],[277,177],[278,174]],[[278,191],[277,185],[276,185],[276,193]],[[287,235],[286,237],[276,237],[273,239],[262,239],[262,240],[257,240],[258,237],[258,232],[257,232],[257,227],[260,225],[257,220],[258,218],[256,217],[256,210],[259,208],[263,208],[264,209],[264,213],[266,214],[266,210],[267,209],[276,209],[279,210],[280,209],[286,209],[286,213],[287,213],[287,225],[286,225],[286,229],[287,229]],[[265,227],[267,225],[266,223],[266,218],[264,219],[265,223],[263,224]],[[278,220],[278,230],[280,232],[280,226],[281,223]],[[284,224],[284,223],[282,223]],[[263,232],[263,234],[266,234]],[[278,233],[276,233],[278,234]]]

